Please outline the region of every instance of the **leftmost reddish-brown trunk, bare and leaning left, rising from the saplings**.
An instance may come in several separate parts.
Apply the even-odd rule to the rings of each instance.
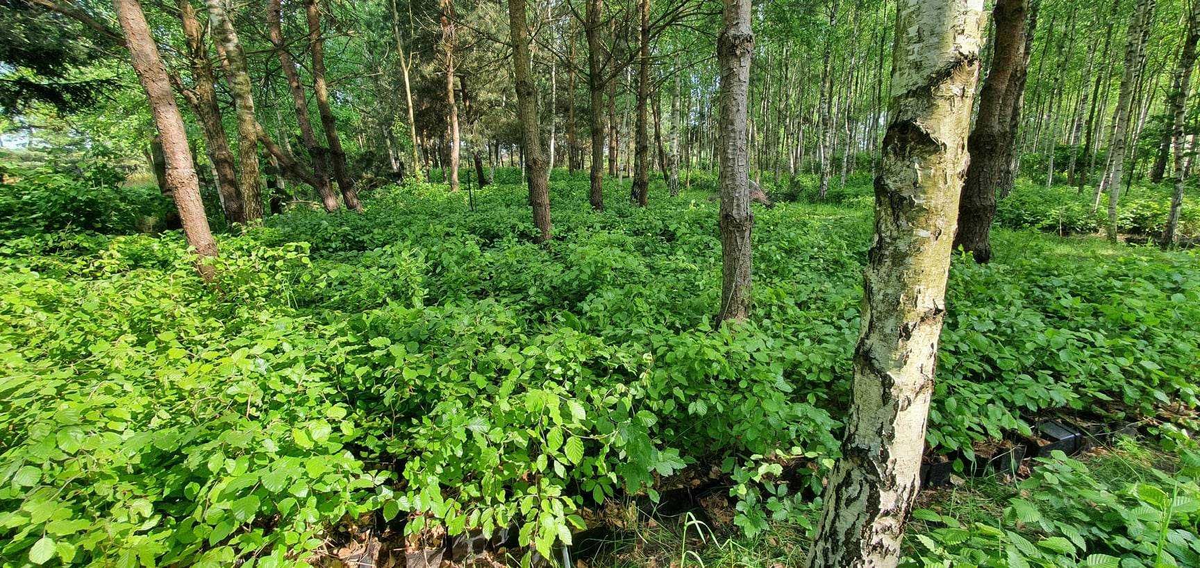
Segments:
[[[204,203],[200,200],[200,180],[196,176],[196,163],[187,147],[187,131],[184,116],[175,105],[175,93],[170,90],[167,70],[158,56],[158,47],[150,35],[150,25],[138,0],[114,0],[116,19],[125,30],[125,42],[130,48],[130,59],[138,81],[146,92],[155,127],[162,141],[163,161],[166,162],[166,182],[179,210],[187,244],[200,256],[196,264],[200,278],[211,282],[212,265],[205,259],[217,255],[217,243],[209,229],[209,219],[204,216]],[[253,144],[253,140],[251,140]]]

